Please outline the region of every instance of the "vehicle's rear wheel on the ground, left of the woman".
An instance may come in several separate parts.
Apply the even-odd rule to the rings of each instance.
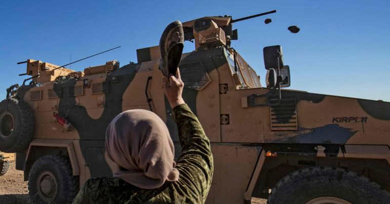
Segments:
[[[28,194],[33,203],[71,203],[79,190],[69,159],[61,155],[38,158],[28,175]]]

